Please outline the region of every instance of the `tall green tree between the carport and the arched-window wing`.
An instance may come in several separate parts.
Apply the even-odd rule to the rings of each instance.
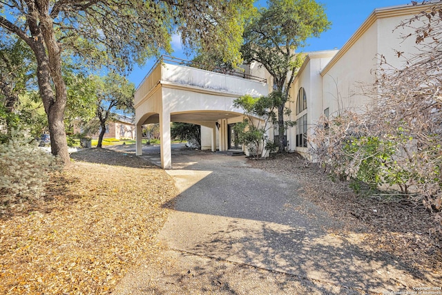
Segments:
[[[289,87],[302,59],[296,50],[306,45],[309,37],[318,37],[330,26],[323,5],[314,0],[269,0],[244,31],[244,61],[258,61],[273,77],[273,95],[278,107],[278,147],[284,151],[285,104]]]

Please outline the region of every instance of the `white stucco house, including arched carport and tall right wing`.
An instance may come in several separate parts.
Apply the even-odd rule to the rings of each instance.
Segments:
[[[404,61],[396,50],[416,50],[412,39],[400,38],[407,35],[406,29],[394,28],[422,10],[423,6],[412,5],[377,8],[340,50],[305,54],[290,88],[290,119],[297,124],[287,130],[287,151],[309,155],[311,126],[321,115],[334,115],[344,108],[363,110],[369,97],[362,93],[361,84],[374,82],[379,56],[400,67]],[[267,95],[271,89],[270,75],[258,64],[247,66],[244,77],[158,64],[135,93],[137,155],[141,154],[142,125],[154,122],[160,122],[163,168],[171,168],[170,122],[200,124],[202,149],[238,148],[233,144],[231,126],[242,121],[243,115],[233,107],[233,99],[244,94]],[[270,129],[268,136],[275,134]]]

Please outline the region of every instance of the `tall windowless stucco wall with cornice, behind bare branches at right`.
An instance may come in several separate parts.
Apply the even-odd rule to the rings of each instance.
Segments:
[[[394,29],[421,9],[413,6],[379,8],[358,28],[322,73],[323,108],[329,107],[330,115],[347,108],[367,111],[372,97],[363,87],[373,85],[381,55],[392,66],[401,68],[405,59],[398,57],[397,51],[409,57],[417,52],[413,38],[405,41],[401,38],[411,32],[410,28]]]

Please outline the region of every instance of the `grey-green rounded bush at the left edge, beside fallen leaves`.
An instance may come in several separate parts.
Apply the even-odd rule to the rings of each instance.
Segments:
[[[0,144],[0,210],[23,207],[44,196],[49,173],[59,169],[57,159],[20,133]]]

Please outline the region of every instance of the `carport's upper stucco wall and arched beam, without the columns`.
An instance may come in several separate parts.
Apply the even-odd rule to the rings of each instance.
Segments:
[[[240,108],[233,107],[232,101],[245,94],[267,95],[268,86],[264,82],[207,70],[158,64],[135,93],[135,122],[140,123],[146,113],[160,113],[164,108],[171,114],[194,111],[242,113]]]

